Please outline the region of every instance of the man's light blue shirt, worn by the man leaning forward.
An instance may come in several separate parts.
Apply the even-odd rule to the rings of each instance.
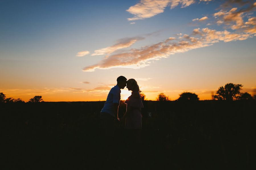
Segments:
[[[104,107],[101,112],[106,112],[114,117],[113,104],[117,103],[119,105],[121,99],[120,93],[121,90],[117,85],[112,87],[108,93],[107,100],[104,103]]]

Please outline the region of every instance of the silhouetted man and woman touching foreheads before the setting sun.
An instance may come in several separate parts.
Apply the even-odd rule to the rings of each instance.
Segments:
[[[114,128],[118,122],[125,121],[125,129],[141,129],[142,128],[142,116],[141,108],[143,104],[140,98],[140,88],[138,83],[133,78],[127,80],[124,76],[119,76],[117,78],[117,84],[111,88],[108,93],[107,100],[101,110],[101,120],[103,121],[103,128],[109,129]],[[118,106],[120,104],[120,89],[127,87],[128,90],[132,91],[132,95],[126,99],[124,102],[126,107],[126,112],[122,118],[118,117]]]

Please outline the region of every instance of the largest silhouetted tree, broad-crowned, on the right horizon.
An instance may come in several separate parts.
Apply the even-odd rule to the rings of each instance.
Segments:
[[[216,95],[214,95],[214,99],[229,100],[229,101],[237,99],[241,94],[240,92],[241,87],[243,87],[241,84],[233,84],[233,83],[228,83],[225,85],[225,87],[221,86],[217,90]]]

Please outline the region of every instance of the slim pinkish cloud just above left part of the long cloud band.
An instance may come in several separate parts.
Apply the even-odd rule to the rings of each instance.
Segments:
[[[97,56],[97,55],[105,55],[105,54],[111,54],[112,52],[122,49],[122,48],[127,48],[134,44],[136,41],[143,40],[144,37],[132,37],[132,38],[123,38],[119,39],[118,42],[112,46],[108,46],[106,48],[101,48],[99,50],[95,50],[92,56]]]

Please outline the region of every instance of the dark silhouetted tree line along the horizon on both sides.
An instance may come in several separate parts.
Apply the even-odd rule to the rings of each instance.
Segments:
[[[241,84],[233,84],[228,83],[224,87],[221,86],[217,91],[216,94],[212,95],[213,100],[256,100],[256,95],[251,96],[248,92],[242,93],[242,85]],[[146,95],[141,93],[140,98],[142,101],[146,100]],[[157,101],[170,101],[168,96],[164,93],[158,94]],[[183,92],[179,94],[179,98],[177,101],[198,101],[199,97],[195,93],[191,92]],[[38,103],[43,102],[42,96],[34,96],[31,98],[27,103]],[[6,98],[5,94],[0,93],[0,103],[25,103],[21,98],[14,99],[13,97]]]

